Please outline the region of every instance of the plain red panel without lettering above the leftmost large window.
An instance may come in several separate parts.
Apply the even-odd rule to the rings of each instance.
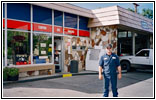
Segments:
[[[7,28],[30,30],[30,23],[8,19],[7,20]]]

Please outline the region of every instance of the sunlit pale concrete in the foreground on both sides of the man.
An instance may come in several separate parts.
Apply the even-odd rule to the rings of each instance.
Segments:
[[[118,89],[119,98],[122,97],[153,97],[153,86],[152,86],[153,78],[148,80],[123,87]],[[28,88],[28,87],[18,87],[14,89],[5,89],[4,97],[102,97],[101,93],[85,93],[79,92],[70,89],[46,89],[46,88]],[[16,91],[16,94],[15,94]],[[23,93],[24,91],[25,93]],[[42,93],[39,93],[41,92]],[[54,92],[55,91],[55,92]],[[29,94],[31,92],[31,94]],[[110,97],[112,97],[112,92],[110,91]]]

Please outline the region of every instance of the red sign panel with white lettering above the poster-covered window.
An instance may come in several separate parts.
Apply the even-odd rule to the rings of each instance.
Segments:
[[[52,32],[52,25],[33,23],[33,31]]]

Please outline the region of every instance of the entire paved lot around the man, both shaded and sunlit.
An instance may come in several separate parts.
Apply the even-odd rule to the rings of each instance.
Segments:
[[[153,74],[133,71],[118,80],[119,97],[153,97]],[[103,81],[97,75],[80,75],[3,86],[3,97],[102,97]],[[110,89],[110,97],[112,92]]]

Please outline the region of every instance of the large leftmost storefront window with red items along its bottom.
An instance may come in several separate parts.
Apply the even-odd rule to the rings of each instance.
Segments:
[[[8,65],[26,65],[31,63],[29,32],[8,31],[7,41]]]

